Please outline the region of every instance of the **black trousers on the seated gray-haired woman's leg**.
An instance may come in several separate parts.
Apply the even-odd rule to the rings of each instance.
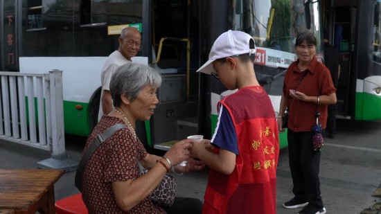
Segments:
[[[172,206],[162,206],[168,214],[197,214],[202,211],[202,201],[191,197],[175,197]]]

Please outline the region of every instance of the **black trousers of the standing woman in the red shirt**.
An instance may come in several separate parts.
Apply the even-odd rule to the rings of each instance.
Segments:
[[[312,151],[312,132],[287,131],[288,154],[292,176],[292,193],[297,199],[323,208],[320,196],[320,152]]]

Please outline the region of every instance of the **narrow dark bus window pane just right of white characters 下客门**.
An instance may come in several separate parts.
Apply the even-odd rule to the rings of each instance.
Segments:
[[[42,0],[28,0],[28,30],[42,28]]]

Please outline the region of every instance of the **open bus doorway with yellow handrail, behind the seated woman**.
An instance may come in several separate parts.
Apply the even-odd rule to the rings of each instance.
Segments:
[[[159,105],[150,121],[148,146],[168,150],[199,132],[198,1],[150,2],[150,64],[163,75],[163,82],[157,91]]]

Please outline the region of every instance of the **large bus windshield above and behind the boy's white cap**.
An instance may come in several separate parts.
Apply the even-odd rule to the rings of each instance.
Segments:
[[[314,6],[315,2],[307,6]],[[277,51],[294,53],[294,39],[308,31],[305,26],[305,6],[301,1],[236,1],[231,8],[231,29],[252,35],[256,45]],[[314,12],[314,15],[317,13]],[[318,29],[317,29],[318,30]],[[317,31],[314,29],[313,31]],[[315,33],[319,35],[318,32]],[[287,67],[288,64],[285,66]]]

